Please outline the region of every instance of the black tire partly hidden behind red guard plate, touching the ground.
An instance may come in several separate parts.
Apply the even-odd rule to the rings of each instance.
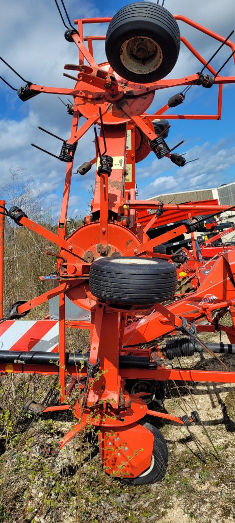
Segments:
[[[168,466],[168,448],[166,440],[163,438],[159,430],[151,425],[145,423],[143,425],[154,435],[154,448],[152,451],[152,461],[149,469],[135,478],[123,477],[121,482],[124,485],[148,485],[149,483],[156,483],[166,474]]]

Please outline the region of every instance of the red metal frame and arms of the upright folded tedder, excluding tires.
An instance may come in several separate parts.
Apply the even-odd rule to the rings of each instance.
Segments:
[[[195,27],[218,41],[225,41],[225,38],[217,35],[217,33],[183,16],[175,15],[175,19]],[[153,214],[146,219],[146,213],[142,212],[144,210],[158,210],[160,207],[166,212],[162,218],[157,218],[158,225],[164,222],[165,216],[168,220],[172,215],[175,219],[178,217],[179,220],[182,220],[182,216],[191,217],[192,213],[195,215],[200,213],[217,213],[229,209],[229,206],[218,206],[217,201],[166,205],[158,201],[136,200],[135,163],[149,153],[148,140],[153,140],[157,137],[151,123],[155,118],[167,116],[167,118],[172,119],[220,119],[222,85],[234,83],[235,77],[218,75],[215,78],[215,84],[218,85],[217,115],[164,115],[168,105],[160,108],[154,115],[147,115],[146,110],[150,106],[156,90],[192,85],[198,79],[198,75],[194,74],[179,79],[162,79],[147,86],[130,82],[122,84],[120,78],[116,79],[113,76],[113,70],[108,63],[98,65],[93,57],[92,41],[103,40],[104,37],[88,36],[83,38],[83,24],[108,22],[110,20],[111,18],[76,20],[79,36],[77,33],[74,33],[71,38],[78,48],[78,65],[67,64],[65,66],[66,71],[72,70],[73,75],[76,75],[72,76],[65,73],[65,76],[75,79],[75,87],[73,89],[46,87],[35,84],[29,87],[30,90],[37,93],[54,93],[74,97],[72,130],[67,140],[69,144],[76,144],[94,123],[101,123],[100,109],[107,144],[106,154],[113,157],[113,168],[109,177],[108,174],[102,171],[99,173],[97,169],[95,192],[91,202],[93,221],[91,221],[90,217],[86,217],[86,224],[81,226],[70,237],[66,238],[66,218],[73,162],[68,163],[66,167],[57,235],[32,222],[29,218],[22,217],[20,219],[21,225],[58,245],[60,256],[66,260],[62,263],[61,258],[57,259],[58,287],[18,307],[18,312],[22,313],[43,301],[51,299],[55,295],[59,296],[59,362],[57,367],[28,364],[22,366],[19,363],[1,364],[0,371],[2,373],[58,374],[62,403],[66,402],[66,398],[74,389],[75,384],[79,382],[79,379],[82,378],[84,380],[87,377],[87,402],[85,405],[81,405],[77,401],[73,405],[73,412],[79,419],[79,423],[61,440],[60,448],[72,439],[75,434],[83,430],[87,424],[99,425],[101,427],[101,435],[103,436],[100,438],[103,462],[107,463],[108,461],[114,472],[118,473],[118,466],[124,459],[124,461],[126,460],[124,472],[127,472],[127,475],[130,477],[136,477],[148,468],[153,445],[152,434],[148,430],[146,431],[144,427],[140,427],[137,424],[138,420],[148,412],[148,414],[172,419],[179,424],[183,422],[180,418],[168,414],[147,411],[146,404],[138,395],[130,396],[125,391],[125,380],[130,378],[147,380],[177,379],[235,383],[235,373],[185,369],[169,370],[164,365],[154,370],[120,369],[119,355],[122,351],[124,353],[128,351],[129,344],[134,346],[130,349],[131,354],[136,354],[138,353],[139,344],[151,342],[156,337],[162,337],[168,333],[175,335],[176,329],[182,325],[181,316],[186,317],[187,322],[195,322],[202,317],[209,317],[210,319],[211,311],[225,308],[226,306],[229,306],[232,311],[235,303],[235,283],[233,280],[235,277],[235,252],[228,252],[220,256],[211,268],[209,275],[204,278],[194,293],[171,303],[167,308],[158,304],[155,306],[155,311],[152,309],[147,313],[146,311],[127,312],[121,309],[110,308],[108,304],[99,303],[89,290],[87,281],[89,268],[96,257],[100,255],[109,256],[116,252],[122,256],[144,255],[152,257],[152,249],[155,246],[186,232],[185,225],[180,225],[153,240],[149,240],[146,232],[150,226],[156,225],[156,215]],[[206,63],[205,59],[197,53],[184,37],[181,37],[181,40],[202,64]],[[88,48],[85,46],[84,41],[88,42]],[[235,50],[235,45],[231,41],[227,41],[226,45]],[[84,64],[84,59],[89,66]],[[215,74],[215,71],[210,66],[207,66],[207,69]],[[128,100],[130,91],[132,92],[132,99]],[[123,103],[123,100],[125,103]],[[78,129],[80,115],[86,118],[86,122]],[[99,146],[102,151],[104,137],[101,131]],[[97,154],[96,150],[96,157],[93,158],[92,164],[96,162]],[[170,154],[167,154],[167,156],[169,157]],[[130,225],[128,227],[129,221]],[[0,219],[0,278],[2,277],[3,280],[2,231],[3,219],[2,221]],[[0,306],[1,289],[2,287],[0,287]],[[205,295],[208,294],[215,296],[214,303],[204,303]],[[90,324],[89,322],[66,321],[66,295],[81,308],[91,312]],[[231,327],[221,326],[220,328],[227,332],[229,339],[233,343],[235,340],[235,319],[233,313],[231,318]],[[99,364],[100,376],[98,376],[98,379],[93,380],[92,374],[88,374],[86,368],[79,369],[78,373],[76,367],[65,366],[65,328],[68,327],[91,329],[89,363],[90,365]],[[199,332],[201,326],[197,325],[197,328]],[[210,322],[208,328],[215,328],[213,322]],[[141,355],[146,354],[143,349],[140,349],[139,352]],[[72,381],[66,388],[65,380],[68,374]],[[84,386],[84,382],[82,386]],[[69,406],[64,404],[58,407],[49,407],[46,408],[45,412],[55,410],[55,408],[56,410],[64,410],[69,408]],[[191,418],[190,423],[192,423]],[[111,428],[114,436],[113,434],[107,435],[107,427]],[[137,456],[130,461],[124,456],[123,452],[120,453],[120,456],[116,453],[114,467],[110,450],[107,450],[107,444],[111,443],[111,446],[114,446],[116,449],[115,438],[117,438],[117,434],[120,441],[128,440],[128,447],[133,448],[133,451],[136,450],[136,445],[138,447],[141,441],[144,447],[143,458],[140,458],[140,455],[137,453]],[[108,471],[109,469],[107,469]]]

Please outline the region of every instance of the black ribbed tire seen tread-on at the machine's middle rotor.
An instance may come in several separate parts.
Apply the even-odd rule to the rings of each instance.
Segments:
[[[177,270],[160,259],[97,258],[90,268],[89,285],[92,294],[105,302],[153,305],[173,298]]]

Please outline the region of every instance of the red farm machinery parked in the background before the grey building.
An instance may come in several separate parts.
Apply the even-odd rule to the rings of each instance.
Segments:
[[[187,202],[187,205],[199,206],[218,205],[218,200],[205,200],[201,202]],[[156,213],[140,211],[138,214],[139,223],[143,226],[149,226],[147,234],[151,238],[159,236],[163,232],[177,228],[185,215],[191,216],[191,213],[183,211],[166,211],[160,217]],[[221,211],[218,213],[221,214]],[[197,215],[195,218],[198,222],[197,235],[191,234],[180,235],[173,238],[164,245],[154,247],[154,253],[171,254],[171,260],[177,268],[178,287],[175,297],[185,295],[193,289],[197,289],[209,273],[216,259],[221,254],[225,254],[234,249],[232,242],[222,243],[221,238],[230,233],[234,234],[235,225],[233,222],[218,224],[219,215],[209,216]],[[149,224],[149,225],[148,225]],[[219,231],[217,228],[222,229]],[[199,235],[199,232],[204,233]],[[209,237],[208,237],[209,235]]]

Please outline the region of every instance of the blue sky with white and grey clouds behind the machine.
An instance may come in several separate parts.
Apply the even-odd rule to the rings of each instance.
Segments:
[[[161,3],[161,0],[160,0]],[[127,4],[124,0],[65,0],[70,19],[113,16]],[[115,4],[115,7],[114,7]],[[172,14],[182,14],[226,37],[234,29],[234,0],[165,0],[164,7]],[[203,33],[179,22],[181,34],[189,40],[205,59],[218,47],[218,42]],[[62,76],[65,63],[77,62],[75,44],[64,39],[64,26],[58,15],[54,0],[8,0],[1,6],[1,56],[19,73],[36,84],[73,88],[74,82]],[[85,32],[105,34],[108,26],[96,24],[85,26]],[[234,36],[232,37],[234,41]],[[97,42],[95,58],[105,60],[104,42]],[[225,48],[213,61],[217,69],[227,58]],[[183,77],[200,69],[198,61],[181,45],[180,56],[170,77]],[[22,81],[0,63],[0,74],[11,85],[19,88]],[[234,75],[231,60],[224,74]],[[222,119],[216,120],[171,120],[172,127],[167,140],[172,147],[181,140],[185,143],[177,152],[186,152],[186,160],[199,157],[197,162],[177,168],[168,158],[157,160],[150,153],[146,160],[137,164],[137,186],[139,198],[149,198],[164,192],[216,187],[234,181],[234,85],[224,87]],[[149,112],[156,111],[167,103],[179,89],[166,89],[156,93]],[[65,99],[66,101],[66,99]],[[177,112],[171,109],[171,113]],[[169,112],[170,112],[169,111]],[[187,114],[217,112],[217,87],[203,89],[193,87],[180,106]],[[12,169],[21,169],[21,180],[30,178],[34,194],[40,195],[44,209],[52,207],[54,215],[60,212],[65,164],[33,147],[36,143],[58,154],[61,142],[38,130],[42,126],[51,132],[68,138],[71,117],[55,95],[40,95],[27,102],[19,100],[17,93],[0,81],[0,185],[9,183]],[[95,153],[93,130],[80,140],[75,154],[74,170]],[[94,185],[93,170],[85,177],[73,177],[69,215],[84,216],[89,192]],[[19,180],[20,181],[20,180]],[[0,198],[4,197],[1,190]]]

